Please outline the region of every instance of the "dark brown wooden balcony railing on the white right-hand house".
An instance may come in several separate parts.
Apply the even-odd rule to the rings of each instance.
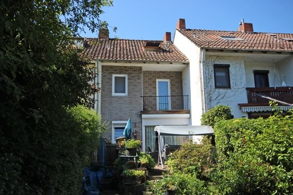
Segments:
[[[269,103],[269,99],[258,95],[265,95],[287,103],[293,103],[293,87],[265,87],[246,88],[248,103]]]

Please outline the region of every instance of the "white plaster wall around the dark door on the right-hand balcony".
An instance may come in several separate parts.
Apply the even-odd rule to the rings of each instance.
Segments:
[[[281,86],[282,77],[280,77],[278,65],[275,65],[275,78],[273,63],[245,62],[246,87],[255,87],[253,70],[268,70],[270,87]]]

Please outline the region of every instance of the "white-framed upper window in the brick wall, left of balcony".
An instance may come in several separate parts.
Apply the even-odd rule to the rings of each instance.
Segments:
[[[127,75],[113,75],[112,96],[127,96]]]

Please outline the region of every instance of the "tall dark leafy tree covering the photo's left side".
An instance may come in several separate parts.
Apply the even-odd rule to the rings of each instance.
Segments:
[[[72,40],[84,27],[105,26],[101,7],[110,5],[1,1],[0,195],[80,193],[84,159],[75,154],[79,123],[69,108],[90,106],[98,88],[89,84],[94,75]]]

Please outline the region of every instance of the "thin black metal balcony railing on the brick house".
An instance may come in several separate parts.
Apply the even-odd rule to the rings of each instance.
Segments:
[[[144,111],[189,110],[186,96],[142,96]]]

